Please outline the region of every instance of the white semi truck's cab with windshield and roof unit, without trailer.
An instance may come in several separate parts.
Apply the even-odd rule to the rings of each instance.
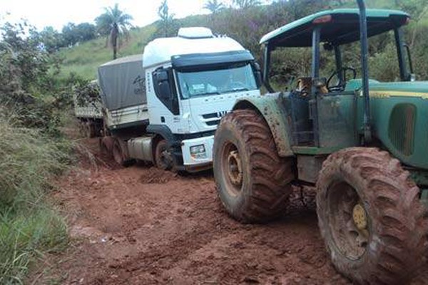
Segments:
[[[213,136],[236,100],[260,96],[251,53],[208,28],[181,28],[177,37],[148,43],[143,54],[148,132],[170,138],[176,165],[210,167]]]

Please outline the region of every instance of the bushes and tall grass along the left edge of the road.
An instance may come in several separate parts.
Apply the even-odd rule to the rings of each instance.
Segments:
[[[59,127],[78,79],[58,80],[58,59],[28,24],[0,29],[0,284],[21,284],[31,264],[68,244],[49,192],[72,160]]]

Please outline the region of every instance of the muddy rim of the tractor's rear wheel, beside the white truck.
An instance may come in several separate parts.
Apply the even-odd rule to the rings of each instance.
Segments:
[[[225,170],[226,189],[230,195],[239,195],[243,187],[243,166],[238,147],[225,142],[220,161],[221,169]]]

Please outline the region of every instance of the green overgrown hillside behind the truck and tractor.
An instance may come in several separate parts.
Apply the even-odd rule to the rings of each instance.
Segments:
[[[325,9],[337,9],[355,7],[352,0],[290,0],[275,1],[265,6],[250,6],[247,9],[222,9],[209,15],[188,16],[185,19],[172,20],[168,28],[168,36],[174,36],[179,27],[207,26],[215,33],[225,34],[235,38],[250,49],[260,59],[260,38],[267,32],[282,25],[290,23],[303,16]],[[418,79],[428,78],[428,60],[424,54],[428,51],[427,31],[428,20],[427,4],[423,0],[372,0],[367,1],[369,8],[400,9],[407,11],[412,16],[412,22],[405,29],[407,42],[412,48],[415,73]],[[127,56],[135,53],[143,53],[143,48],[158,36],[163,36],[159,31],[162,21],[135,28],[131,31],[128,41],[123,41],[118,56]],[[371,77],[379,80],[394,80],[398,66],[395,61],[394,43],[391,38],[377,37],[370,40],[370,69]],[[350,46],[345,51],[345,60],[358,66],[359,53],[357,46]],[[98,38],[93,41],[81,43],[72,48],[65,48],[59,52],[63,58],[62,74],[73,72],[86,79],[96,78],[96,67],[101,63],[111,60],[111,48],[106,44],[106,38]],[[307,73],[309,51],[287,50],[274,56],[273,80],[287,82],[292,76],[299,73]],[[330,64],[327,61],[327,68]]]

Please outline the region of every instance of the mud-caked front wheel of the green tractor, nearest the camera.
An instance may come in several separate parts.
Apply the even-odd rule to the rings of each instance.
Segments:
[[[352,147],[324,162],[317,214],[332,263],[360,284],[406,284],[423,263],[427,218],[399,161]]]

